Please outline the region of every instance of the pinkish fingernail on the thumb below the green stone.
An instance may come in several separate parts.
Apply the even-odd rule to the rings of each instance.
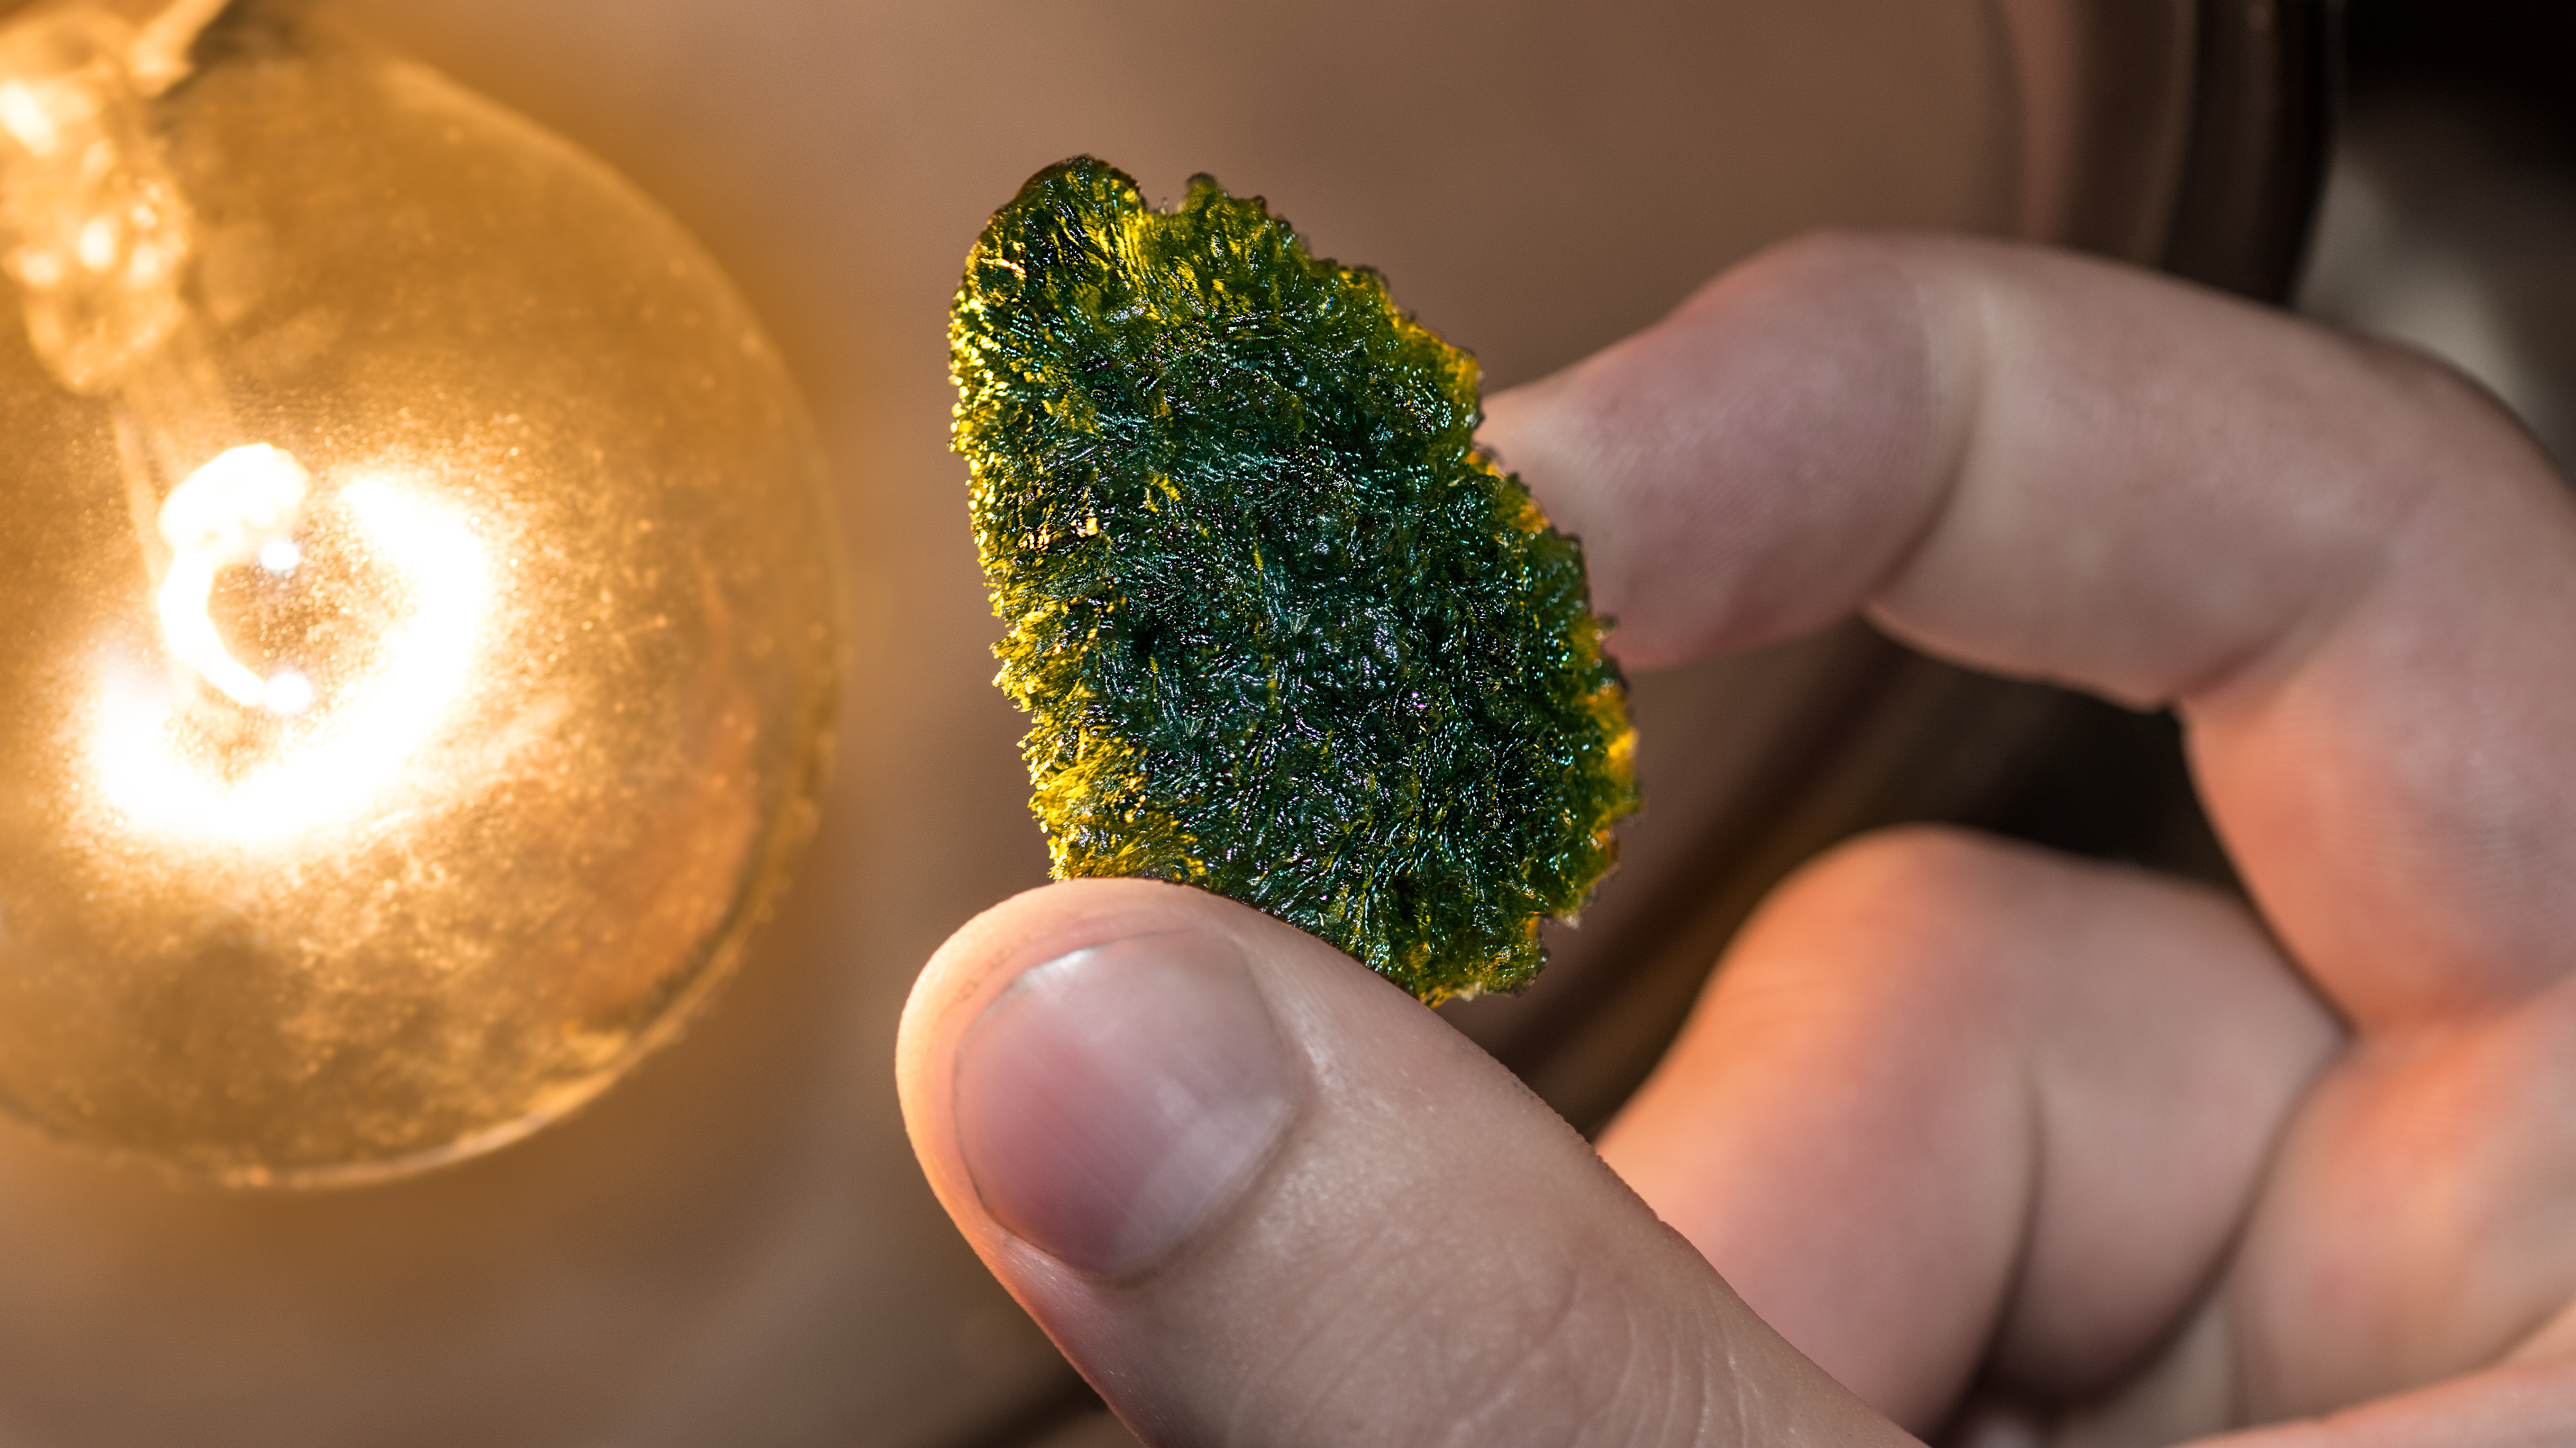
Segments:
[[[966,1028],[958,1149],[984,1211],[1092,1273],[1136,1273],[1224,1211],[1296,1113],[1296,1072],[1231,940],[1074,951]]]

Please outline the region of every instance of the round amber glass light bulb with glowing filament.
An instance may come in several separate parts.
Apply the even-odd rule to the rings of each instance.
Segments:
[[[456,1159],[729,971],[811,827],[819,451],[680,229],[304,15],[0,28],[0,1108]]]

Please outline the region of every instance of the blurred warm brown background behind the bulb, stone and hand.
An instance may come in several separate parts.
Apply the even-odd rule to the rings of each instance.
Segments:
[[[10,5],[0,0],[0,10]],[[0,1134],[0,1443],[1121,1443],[922,1188],[912,971],[1043,879],[945,451],[945,304],[1074,152],[1265,193],[1489,384],[1819,224],[2084,245],[2290,296],[2334,103],[2324,0],[340,0],[572,137],[739,278],[822,423],[855,672],[822,843],[688,1041],[422,1180],[180,1196]],[[2576,443],[2553,8],[2352,0],[2306,304]],[[2172,724],[1860,629],[1641,678],[1649,814],[1561,964],[1455,1013],[1577,1123],[1641,1077],[1806,853],[1960,819],[2226,879]]]

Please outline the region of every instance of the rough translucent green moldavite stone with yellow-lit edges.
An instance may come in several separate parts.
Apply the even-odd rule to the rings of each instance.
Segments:
[[[992,219],[948,345],[1056,879],[1213,889],[1432,1002],[1525,984],[1633,734],[1476,361],[1260,198],[1090,157]]]

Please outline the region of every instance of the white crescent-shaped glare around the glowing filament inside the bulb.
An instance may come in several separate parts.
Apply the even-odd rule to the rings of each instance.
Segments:
[[[175,502],[178,492],[170,497]],[[489,605],[492,577],[482,541],[456,508],[384,479],[355,482],[340,490],[337,502],[368,549],[407,585],[410,613],[381,639],[381,665],[337,683],[309,734],[240,778],[222,778],[188,755],[185,711],[165,678],[152,678],[149,670],[111,675],[93,765],[106,804],[129,827],[270,845],[361,819],[384,804],[404,778],[404,765],[456,711]],[[314,685],[299,672],[252,678],[252,701],[278,714],[301,714],[314,703]],[[299,709],[289,709],[291,703]]]

